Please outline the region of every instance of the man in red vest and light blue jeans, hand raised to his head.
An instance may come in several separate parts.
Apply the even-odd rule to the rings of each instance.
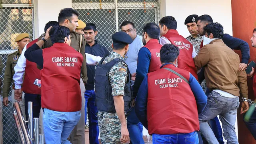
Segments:
[[[53,46],[40,49],[49,37]],[[44,39],[28,48],[24,56],[42,68],[41,104],[44,108],[45,142],[70,143],[67,138],[81,116],[83,56],[70,46],[70,30],[65,26],[50,27]]]

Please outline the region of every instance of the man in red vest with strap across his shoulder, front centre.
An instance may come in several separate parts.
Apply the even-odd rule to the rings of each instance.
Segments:
[[[207,97],[190,72],[176,68],[179,52],[173,44],[162,46],[161,68],[148,73],[138,91],[136,114],[153,144],[198,144],[198,114]]]

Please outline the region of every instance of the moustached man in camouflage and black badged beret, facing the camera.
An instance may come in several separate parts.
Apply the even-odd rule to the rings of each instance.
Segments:
[[[198,15],[192,14],[186,18],[184,24],[187,26],[188,32],[190,33],[190,36],[188,36],[186,38],[186,40],[188,40],[194,46],[194,48],[196,50],[196,54],[198,54],[199,49],[200,49],[200,44],[203,40],[203,36],[200,36],[198,34],[196,18],[198,18]],[[206,92],[206,81],[205,80],[202,81],[201,86],[202,86],[204,92]]]

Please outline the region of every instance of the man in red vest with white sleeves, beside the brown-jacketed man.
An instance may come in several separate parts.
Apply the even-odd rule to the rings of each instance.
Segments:
[[[173,44],[180,49],[178,68],[187,70],[196,79],[196,67],[193,58],[197,55],[194,46],[177,32],[177,21],[172,16],[165,16],[159,21],[161,38],[159,43]]]

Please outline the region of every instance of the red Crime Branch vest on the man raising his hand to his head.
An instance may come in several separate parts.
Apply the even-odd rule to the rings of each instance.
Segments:
[[[80,74],[83,56],[71,46],[55,43],[43,49],[42,108],[58,112],[81,110]]]

